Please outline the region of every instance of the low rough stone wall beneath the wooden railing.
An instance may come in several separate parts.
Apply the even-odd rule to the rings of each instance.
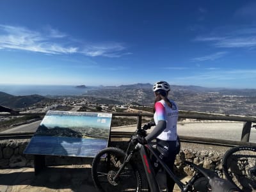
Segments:
[[[0,168],[15,168],[15,167],[33,167],[34,156],[30,154],[23,154],[24,149],[28,145],[29,140],[1,140],[0,141]],[[126,141],[116,141],[109,143],[112,147],[119,147],[125,149]],[[194,145],[194,146],[193,146]],[[192,175],[191,170],[184,161],[191,161],[205,168],[214,170],[221,170],[221,159],[223,153],[227,148],[209,147],[193,143],[181,143],[180,153],[177,155],[175,161],[175,172],[177,174]],[[138,158],[139,155],[135,156]],[[46,156],[47,165],[63,165],[63,164],[90,164],[92,158],[83,157],[60,157],[60,156]],[[221,176],[221,171],[220,171]]]

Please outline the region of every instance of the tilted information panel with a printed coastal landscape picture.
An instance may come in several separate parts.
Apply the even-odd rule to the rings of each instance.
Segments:
[[[48,111],[24,154],[94,157],[108,146],[111,113]]]

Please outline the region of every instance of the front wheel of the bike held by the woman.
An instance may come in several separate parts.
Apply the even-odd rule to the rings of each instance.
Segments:
[[[131,160],[125,165],[120,177],[113,181],[116,172],[124,163],[124,158],[125,152],[115,147],[104,148],[94,157],[92,179],[99,191],[141,191],[141,175]]]

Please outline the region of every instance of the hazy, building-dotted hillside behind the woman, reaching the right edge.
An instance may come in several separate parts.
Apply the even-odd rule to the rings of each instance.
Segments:
[[[129,84],[89,90],[86,95],[119,100],[124,104],[153,106],[152,84]],[[171,85],[170,99],[179,109],[225,115],[256,116],[256,89],[205,88],[201,86]]]

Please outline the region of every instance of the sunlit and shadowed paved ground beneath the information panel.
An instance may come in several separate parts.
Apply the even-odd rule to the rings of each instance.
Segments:
[[[157,176],[164,188],[163,173]],[[185,178],[184,180],[186,180]],[[34,168],[0,170],[0,192],[97,192],[90,165],[54,166],[35,175]],[[147,191],[146,189],[143,191]],[[164,190],[163,190],[164,191]],[[180,191],[175,186],[175,191]],[[118,192],[118,191],[116,191]]]

